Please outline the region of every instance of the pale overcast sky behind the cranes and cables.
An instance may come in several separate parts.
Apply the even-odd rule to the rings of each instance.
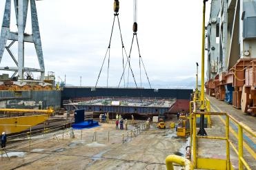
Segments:
[[[1,0],[0,24],[4,6],[5,1]],[[12,12],[14,14],[13,6]],[[110,39],[113,0],[37,1],[37,12],[46,72],[55,72],[62,79],[66,74],[68,84],[79,85],[82,76],[82,85],[95,85]],[[201,63],[201,12],[201,1],[138,0],[137,34],[150,81],[181,81],[195,75],[195,62]],[[133,1],[120,0],[119,19],[127,52],[132,41],[132,13]],[[13,15],[12,31],[17,30],[15,22]],[[121,39],[117,26],[116,23],[110,51],[111,86],[117,86],[122,74]],[[31,32],[30,27],[28,19],[26,32]],[[15,56],[16,48],[17,44],[12,47]],[[25,54],[26,67],[39,67],[31,43],[26,43]],[[7,52],[0,65],[14,65]],[[139,55],[135,45],[131,66],[139,82]],[[101,86],[106,86],[107,67],[106,62],[99,78]],[[127,80],[127,72],[125,75]],[[141,75],[142,82],[146,83],[145,74]],[[131,76],[129,80],[132,81]]]

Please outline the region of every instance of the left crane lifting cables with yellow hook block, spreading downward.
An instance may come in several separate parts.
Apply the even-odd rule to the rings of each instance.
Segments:
[[[127,60],[128,60],[128,56],[127,56],[127,53],[126,53],[126,48],[124,47],[124,41],[123,41],[123,37],[121,35],[121,27],[120,27],[120,22],[119,22],[119,17],[118,17],[119,16],[119,13],[118,13],[119,12],[119,0],[115,0],[114,1],[114,12],[115,12],[115,14],[114,14],[114,20],[113,20],[113,23],[112,23],[112,30],[111,30],[111,34],[110,34],[110,41],[109,41],[109,44],[108,44],[108,49],[107,49],[106,54],[104,56],[104,61],[103,61],[102,65],[101,65],[101,69],[99,71],[99,75],[98,75],[98,78],[97,78],[97,82],[95,84],[95,88],[97,87],[97,84],[99,82],[99,77],[101,75],[102,68],[103,68],[104,63],[106,61],[107,54],[108,54],[108,75],[107,75],[107,87],[108,87],[109,66],[110,66],[110,45],[111,45],[112,33],[113,33],[114,25],[115,25],[115,17],[117,17],[117,21],[118,21],[118,25],[119,25],[119,32],[120,32],[120,36],[121,36],[122,57],[123,57],[123,75],[124,75],[124,70],[126,68],[126,67],[124,67],[124,52],[126,54],[126,59]],[[132,67],[130,67],[130,61],[129,61],[129,68],[130,68],[130,71],[132,72]],[[134,81],[135,81],[135,76],[134,76],[133,72],[132,72],[132,76],[133,76]],[[135,81],[135,85],[137,87],[136,81]],[[125,87],[125,80],[124,80],[124,87]]]

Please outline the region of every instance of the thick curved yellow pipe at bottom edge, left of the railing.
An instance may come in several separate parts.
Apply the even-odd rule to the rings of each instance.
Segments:
[[[193,170],[193,165],[191,164],[190,160],[183,158],[181,156],[170,155],[166,157],[166,168],[167,170],[174,170],[173,163],[180,164],[184,166],[185,170]]]

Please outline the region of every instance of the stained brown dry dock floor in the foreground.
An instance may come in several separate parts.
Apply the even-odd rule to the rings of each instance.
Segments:
[[[134,127],[130,125],[128,128]],[[95,131],[97,141],[92,142]],[[115,129],[115,124],[103,123],[92,129],[75,130],[75,138],[70,138],[68,131],[65,131],[62,138],[60,131],[58,140],[49,134],[48,137],[38,140],[41,142],[32,145],[30,149],[18,149],[21,153],[19,156],[15,156],[17,153],[9,153],[14,156],[10,160],[6,157],[0,160],[1,170],[166,169],[166,156],[184,156],[185,147],[189,143],[188,138],[177,138],[175,129],[157,129],[155,124],[152,124],[150,129],[141,131],[136,137],[130,138],[129,131],[128,139],[126,130]]]

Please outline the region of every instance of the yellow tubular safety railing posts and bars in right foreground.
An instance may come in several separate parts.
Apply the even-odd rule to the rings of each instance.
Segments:
[[[204,114],[204,115],[220,115],[220,116],[226,116],[226,137],[217,137],[217,136],[197,136],[197,127],[196,127],[196,115]],[[198,158],[197,158],[197,138],[205,138],[205,139],[215,139],[215,140],[226,140],[226,169],[230,170],[230,146],[234,149],[235,153],[237,153],[238,160],[239,160],[239,170],[242,170],[243,167],[246,167],[246,169],[250,169],[248,166],[248,163],[246,160],[244,160],[243,157],[243,130],[248,132],[253,137],[256,137],[255,132],[247,127],[246,125],[240,123],[238,120],[233,118],[233,116],[230,116],[230,114],[226,113],[219,113],[219,112],[204,112],[204,113],[193,113],[191,116],[190,122],[192,122],[192,131],[190,138],[193,140],[193,165],[194,168],[201,168],[201,169],[207,169],[207,167],[202,167],[199,164],[197,164]],[[238,151],[235,148],[235,145],[229,138],[229,120],[232,120],[238,127]],[[192,141],[191,141],[192,143]],[[223,169],[223,167],[222,167]]]

